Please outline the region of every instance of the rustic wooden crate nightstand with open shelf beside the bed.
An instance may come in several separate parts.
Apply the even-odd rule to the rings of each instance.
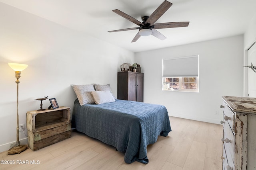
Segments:
[[[27,112],[28,147],[38,150],[71,137],[70,108]]]

